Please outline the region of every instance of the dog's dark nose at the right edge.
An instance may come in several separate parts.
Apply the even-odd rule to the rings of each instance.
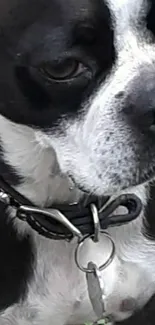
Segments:
[[[144,131],[155,126],[155,71],[143,71],[129,86],[124,113]]]

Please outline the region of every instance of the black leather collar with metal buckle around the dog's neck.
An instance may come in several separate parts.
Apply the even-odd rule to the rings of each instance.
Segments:
[[[92,208],[96,209],[102,230],[120,226],[136,219],[141,210],[141,200],[135,194],[123,194],[111,201],[109,197],[89,197],[78,204],[55,205],[52,208],[37,208],[27,198],[0,177],[0,201],[15,209],[16,218],[27,222],[40,235],[50,239],[72,239],[73,235],[92,235],[94,222]],[[87,203],[84,203],[84,201]],[[123,206],[126,214],[114,214]]]

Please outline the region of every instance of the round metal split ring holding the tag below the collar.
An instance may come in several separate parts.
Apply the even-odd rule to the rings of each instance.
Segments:
[[[102,265],[100,265],[98,267],[99,271],[103,271],[104,269],[106,269],[113,261],[114,257],[115,257],[115,243],[113,241],[113,239],[110,237],[110,235],[105,232],[105,231],[100,231],[102,234],[104,234],[111,242],[112,244],[112,250],[111,250],[111,253],[110,253],[110,256],[108,257],[108,259],[106,260],[105,263],[103,263]],[[93,273],[94,271],[93,270],[90,270],[88,267],[84,267],[80,264],[79,262],[79,250],[80,248],[83,246],[84,242],[86,239],[88,238],[91,238],[93,239],[94,238],[94,235],[86,235],[85,237],[83,237],[79,242],[78,242],[78,245],[76,247],[76,250],[75,250],[75,262],[76,262],[76,265],[77,267],[84,273]]]

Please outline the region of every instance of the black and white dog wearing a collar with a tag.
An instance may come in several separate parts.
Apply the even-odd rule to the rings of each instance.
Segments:
[[[108,229],[105,315],[154,324],[155,3],[1,0],[0,15],[0,175],[38,207],[136,194],[139,217]],[[75,247],[0,204],[0,325],[95,321]],[[81,262],[110,249],[87,241]]]

